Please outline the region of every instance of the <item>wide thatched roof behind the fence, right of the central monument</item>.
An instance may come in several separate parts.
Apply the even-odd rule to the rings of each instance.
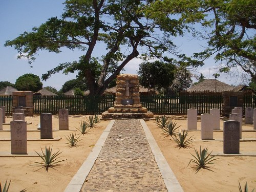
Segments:
[[[188,88],[187,91],[213,91],[215,92],[223,92],[223,91],[233,91],[234,87],[229,86],[224,82],[221,82],[217,79],[205,79],[204,81]]]

